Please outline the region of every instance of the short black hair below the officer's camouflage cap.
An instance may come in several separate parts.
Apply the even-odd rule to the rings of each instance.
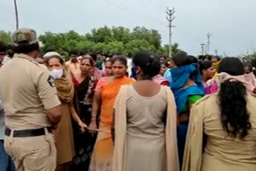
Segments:
[[[28,44],[27,42],[20,42],[18,46],[14,46],[14,52],[18,54],[29,54],[34,50],[39,51],[39,44],[38,42],[33,44]]]

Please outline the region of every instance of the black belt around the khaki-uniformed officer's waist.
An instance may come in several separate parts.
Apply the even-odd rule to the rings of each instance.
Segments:
[[[47,127],[48,132],[51,133],[51,129]],[[45,129],[24,129],[24,130],[13,130],[13,137],[37,137],[45,135]],[[10,136],[11,129],[6,127],[6,136]]]

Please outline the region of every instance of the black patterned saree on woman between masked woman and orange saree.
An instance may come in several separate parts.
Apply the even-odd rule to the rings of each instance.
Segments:
[[[90,125],[92,104],[90,104],[89,98],[93,96],[96,82],[90,76],[81,83],[78,83],[73,78],[73,82],[75,87],[74,109],[80,119],[86,125]],[[88,131],[82,133],[77,124],[73,124],[73,130],[76,155],[70,171],[87,171],[90,166],[90,157],[94,149],[97,134],[91,134]]]

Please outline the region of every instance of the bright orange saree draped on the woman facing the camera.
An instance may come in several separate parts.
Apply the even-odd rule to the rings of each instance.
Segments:
[[[134,79],[123,77],[114,82],[107,83],[106,78],[98,82],[96,91],[102,93],[102,107],[99,129],[110,130],[113,121],[114,101],[122,85],[134,83]],[[112,171],[114,145],[111,133],[98,133],[94,145],[94,152],[90,161],[90,171]]]

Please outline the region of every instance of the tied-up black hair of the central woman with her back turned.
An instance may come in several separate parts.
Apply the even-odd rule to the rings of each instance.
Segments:
[[[144,74],[143,79],[151,79],[158,75],[161,69],[158,57],[146,51],[140,51],[134,54],[134,66],[139,66]]]

